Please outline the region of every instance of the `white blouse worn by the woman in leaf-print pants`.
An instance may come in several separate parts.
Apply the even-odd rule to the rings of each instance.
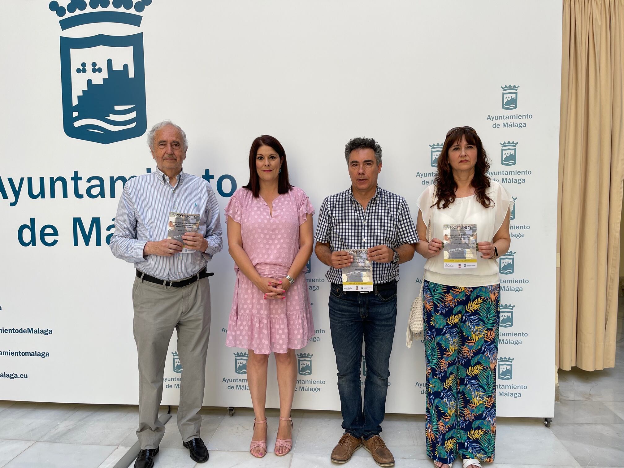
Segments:
[[[507,190],[495,180],[487,195],[494,200],[494,205],[485,208],[474,195],[472,197],[456,198],[449,207],[438,209],[433,204],[434,186],[427,187],[417,200],[422,213],[422,220],[427,225],[427,239],[444,237],[445,224],[475,224],[477,225],[477,242],[492,241],[495,233],[505,220],[514,201]],[[431,224],[429,223],[431,221]],[[431,232],[429,228],[431,227]],[[481,258],[477,252],[477,268],[464,273],[466,270],[444,268],[444,255],[439,253],[425,263],[424,278],[432,283],[447,286],[488,286],[500,283],[499,264],[497,260]]]

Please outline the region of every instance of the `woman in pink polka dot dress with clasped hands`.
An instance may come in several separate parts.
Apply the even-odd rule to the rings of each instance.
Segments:
[[[275,354],[280,389],[280,426],[275,454],[292,447],[290,409],[295,394],[295,349],[314,335],[303,268],[312,255],[314,208],[288,182],[286,153],[269,135],[249,153],[250,180],[225,208],[236,284],[225,344],[247,348],[247,383],[255,412],[250,452],[266,454],[266,368]]]

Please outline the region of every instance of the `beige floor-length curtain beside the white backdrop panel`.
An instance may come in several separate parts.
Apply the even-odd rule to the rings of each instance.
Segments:
[[[624,0],[563,0],[557,365],[615,366]]]

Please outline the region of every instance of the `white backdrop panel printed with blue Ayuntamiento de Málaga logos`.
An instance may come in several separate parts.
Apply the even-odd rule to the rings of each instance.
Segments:
[[[130,298],[134,270],[112,257],[107,235],[122,188],[118,182],[113,194],[110,177],[130,177],[153,167],[140,129],[147,115],[148,125],[172,119],[187,131],[185,170],[197,175],[208,170],[214,176],[210,183],[220,193],[222,208],[231,192],[223,176],[232,176],[237,187],[246,183],[249,146],[260,134],[280,139],[291,182],[310,195],[317,209],[324,197],[349,185],[346,141],[374,137],[383,147],[379,183],[405,197],[413,217],[418,195],[433,178],[436,144],[451,127],[477,129],[492,159],[490,175],[517,197],[515,256],[504,260],[507,274],[501,275],[502,303],[509,307],[500,329],[499,415],[553,415],[560,2],[155,0],[145,11],[130,11],[143,17],[140,26],[95,22],[65,31],[47,5],[28,1],[3,6],[10,21],[0,32],[6,67],[0,76],[5,90],[0,123],[8,142],[0,167],[0,399],[137,402]],[[108,11],[117,10],[111,6]],[[92,11],[67,12],[61,24],[82,21],[80,14],[86,12]],[[72,119],[82,110],[72,115],[66,105],[64,117],[62,80],[71,80],[74,93],[83,92],[82,69],[76,70],[82,60],[93,84],[113,72],[103,62],[109,51],[101,48],[92,55],[73,51],[64,62],[59,37],[86,44],[85,37],[137,32],[143,44],[135,43],[132,50],[144,56],[144,67],[135,55],[128,76],[139,84],[132,92],[138,104],[131,135],[110,144],[68,137],[64,118],[70,129],[76,128]],[[94,39],[100,46],[108,40]],[[112,69],[119,71],[129,61],[129,50],[119,51]],[[93,57],[95,72],[91,59],[83,57]],[[502,89],[507,85],[515,87]],[[515,108],[512,100],[505,109],[509,93],[515,93]],[[76,104],[77,95],[73,99]],[[102,138],[109,134],[114,132],[104,132]],[[97,178],[87,182],[92,176],[103,178],[102,190],[94,187]],[[66,197],[62,180],[52,196],[50,178],[57,177],[67,182]],[[40,178],[44,197],[36,197]],[[36,245],[24,246],[31,243],[31,218]],[[94,218],[99,220],[89,245],[77,218],[87,231]],[[44,233],[54,235],[42,240],[46,225]],[[101,245],[96,245],[96,232]],[[389,412],[424,411],[422,343],[404,346],[407,311],[423,264],[417,257],[401,265]],[[246,376],[236,373],[235,365],[238,359],[240,372],[244,356],[235,353],[245,350],[225,347],[235,278],[225,233],[223,252],[208,269],[216,275],[210,279],[212,331],[204,403],[251,406]],[[317,333],[298,351],[311,354],[300,356],[310,358],[311,366],[300,361],[296,408],[339,409],[325,271],[313,257],[307,277]],[[30,328],[51,333],[29,333]],[[175,342],[174,334],[163,404],[178,401]],[[24,353],[49,356],[20,355]],[[275,379],[269,381],[267,404],[276,407]]]

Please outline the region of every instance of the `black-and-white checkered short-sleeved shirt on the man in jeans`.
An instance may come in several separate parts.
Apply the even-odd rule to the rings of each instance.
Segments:
[[[329,243],[332,251],[367,249],[377,245],[397,248],[418,242],[414,220],[405,198],[377,186],[366,210],[353,197],[353,189],[330,195],[323,200],[314,240]],[[331,283],[343,282],[340,270],[330,267],[326,277]],[[373,283],[399,280],[398,263],[373,261]]]

